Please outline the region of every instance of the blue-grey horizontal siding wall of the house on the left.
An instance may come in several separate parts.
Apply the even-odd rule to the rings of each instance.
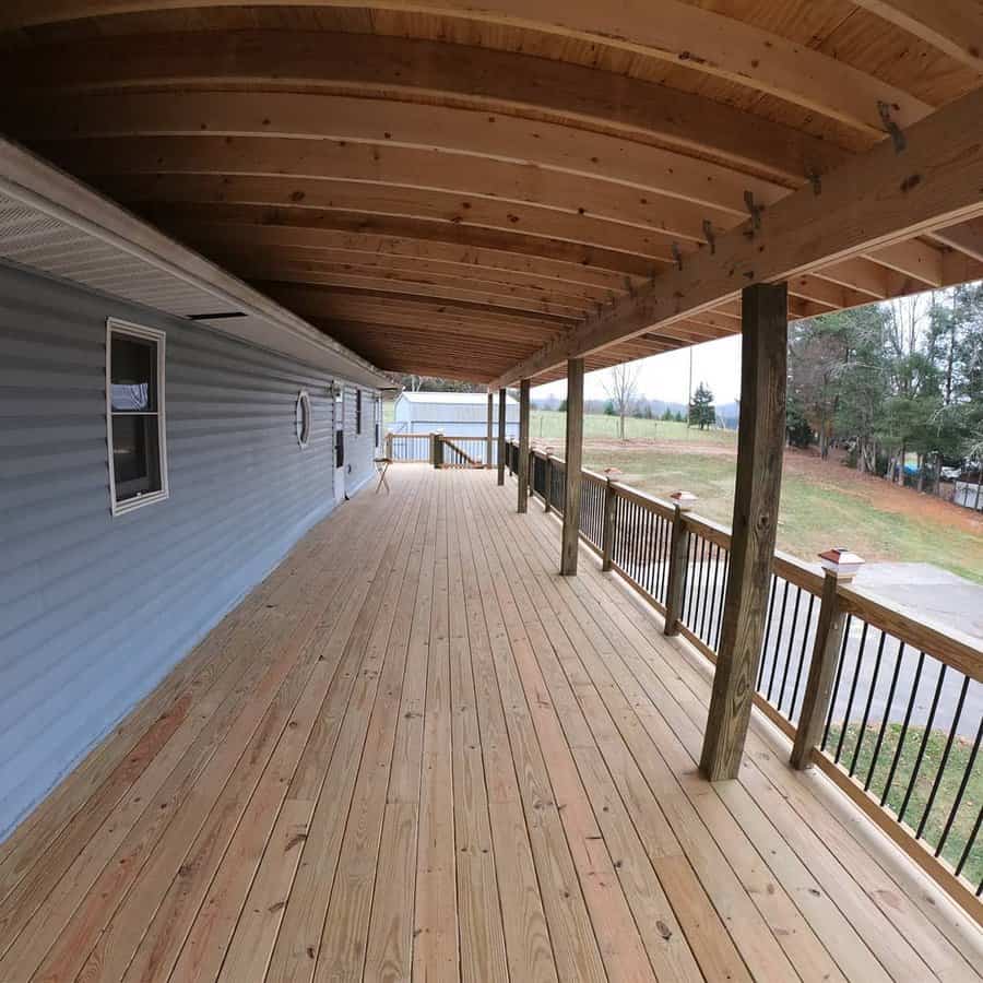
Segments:
[[[170,496],[116,518],[109,316],[167,334]],[[331,381],[0,267],[0,839],[333,507]],[[371,475],[364,399],[368,436],[346,448],[350,495]],[[354,396],[351,421],[354,431]]]

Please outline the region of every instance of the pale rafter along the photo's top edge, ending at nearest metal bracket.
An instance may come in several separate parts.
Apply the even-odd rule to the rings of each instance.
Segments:
[[[254,2],[254,0],[253,0]],[[135,10],[237,5],[238,0],[8,0],[0,29]],[[364,7],[365,0],[260,0],[259,5]],[[729,82],[879,133],[877,104],[897,106],[908,126],[932,107],[850,64],[744,21],[660,0],[658,12],[638,0],[604,4],[569,0],[376,0],[370,9],[465,17],[621,48],[685,64]]]

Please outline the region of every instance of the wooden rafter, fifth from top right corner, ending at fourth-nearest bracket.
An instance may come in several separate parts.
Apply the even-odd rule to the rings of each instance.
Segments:
[[[33,147],[76,176],[220,175],[356,181],[388,189],[440,191],[466,198],[554,209],[623,223],[662,235],[704,240],[702,223],[726,229],[747,215],[699,206],[653,190],[549,171],[531,164],[488,161],[435,150],[256,137],[150,137],[43,141]]]

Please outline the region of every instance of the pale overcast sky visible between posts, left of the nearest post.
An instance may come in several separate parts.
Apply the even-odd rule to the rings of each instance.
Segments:
[[[687,403],[689,384],[689,353],[692,352],[692,388],[706,382],[716,403],[732,403],[741,394],[741,335],[722,337],[718,341],[653,355],[636,363],[639,366],[639,394],[667,403]],[[604,379],[609,370],[590,372],[584,377],[584,398],[605,398]],[[566,380],[537,386],[533,398],[554,393],[562,399],[567,393]]]

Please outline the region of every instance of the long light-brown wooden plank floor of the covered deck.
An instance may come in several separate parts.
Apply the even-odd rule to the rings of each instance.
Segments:
[[[980,979],[981,933],[489,472],[390,471],[0,845],[0,981]]]

